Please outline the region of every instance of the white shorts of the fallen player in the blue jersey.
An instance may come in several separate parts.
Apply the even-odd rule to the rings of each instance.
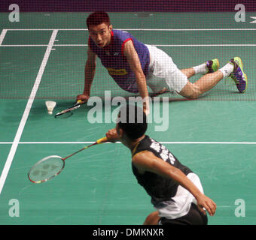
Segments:
[[[147,85],[153,92],[163,88],[181,92],[187,84],[187,77],[172,61],[172,58],[156,46],[146,45],[151,57]]]

